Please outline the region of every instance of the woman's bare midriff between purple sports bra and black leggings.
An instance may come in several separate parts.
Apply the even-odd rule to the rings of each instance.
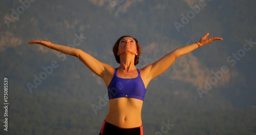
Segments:
[[[142,125],[141,109],[143,101],[135,98],[115,98],[109,101],[106,122],[120,128],[134,128]]]

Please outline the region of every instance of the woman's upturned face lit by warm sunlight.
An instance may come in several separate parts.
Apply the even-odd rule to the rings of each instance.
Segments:
[[[131,53],[137,55],[137,44],[132,37],[124,37],[119,41],[118,53]]]

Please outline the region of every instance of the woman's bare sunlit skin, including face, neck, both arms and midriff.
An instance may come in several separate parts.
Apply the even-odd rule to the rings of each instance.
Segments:
[[[187,54],[199,47],[204,46],[214,40],[223,40],[220,37],[210,37],[206,33],[197,43],[189,44],[177,48],[176,50],[164,55],[158,61],[146,65],[144,68],[140,69],[142,81],[147,87],[148,83],[158,75],[162,74],[175,60],[177,57]],[[92,57],[91,55],[83,52],[80,49],[70,48],[67,46],[61,46],[59,44],[53,44],[50,41],[35,40],[28,42],[28,44],[41,44],[48,48],[54,49],[56,51],[76,56],[88,68],[94,72],[96,75],[100,76],[106,87],[110,84],[112,77],[114,75],[115,69],[105,63],[102,63]],[[120,66],[117,70],[117,76],[120,78],[136,78],[138,73],[134,65],[134,58],[138,54],[136,42],[131,37],[124,37],[119,42],[118,55],[120,56]],[[120,128],[133,128],[142,125],[141,120],[141,109],[143,101],[135,98],[115,98],[109,101],[109,113],[105,120],[115,126]]]

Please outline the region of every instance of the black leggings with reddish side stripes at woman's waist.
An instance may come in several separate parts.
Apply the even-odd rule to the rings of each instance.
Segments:
[[[103,121],[99,135],[143,135],[143,126],[135,128],[120,128]]]

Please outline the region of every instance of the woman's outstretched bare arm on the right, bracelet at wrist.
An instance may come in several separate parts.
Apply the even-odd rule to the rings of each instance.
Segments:
[[[180,47],[175,49],[174,51],[166,54],[162,58],[160,58],[158,61],[156,61],[153,64],[149,64],[145,66],[143,69],[141,69],[144,73],[147,75],[147,80],[150,81],[151,79],[155,78],[156,76],[160,75],[163,73],[174,61],[176,58],[179,56],[182,56],[184,54],[187,54],[199,47],[204,46],[207,43],[210,43],[214,40],[223,40],[220,37],[210,37],[207,38],[209,33],[206,33],[200,40],[199,42],[189,44],[184,47]]]

